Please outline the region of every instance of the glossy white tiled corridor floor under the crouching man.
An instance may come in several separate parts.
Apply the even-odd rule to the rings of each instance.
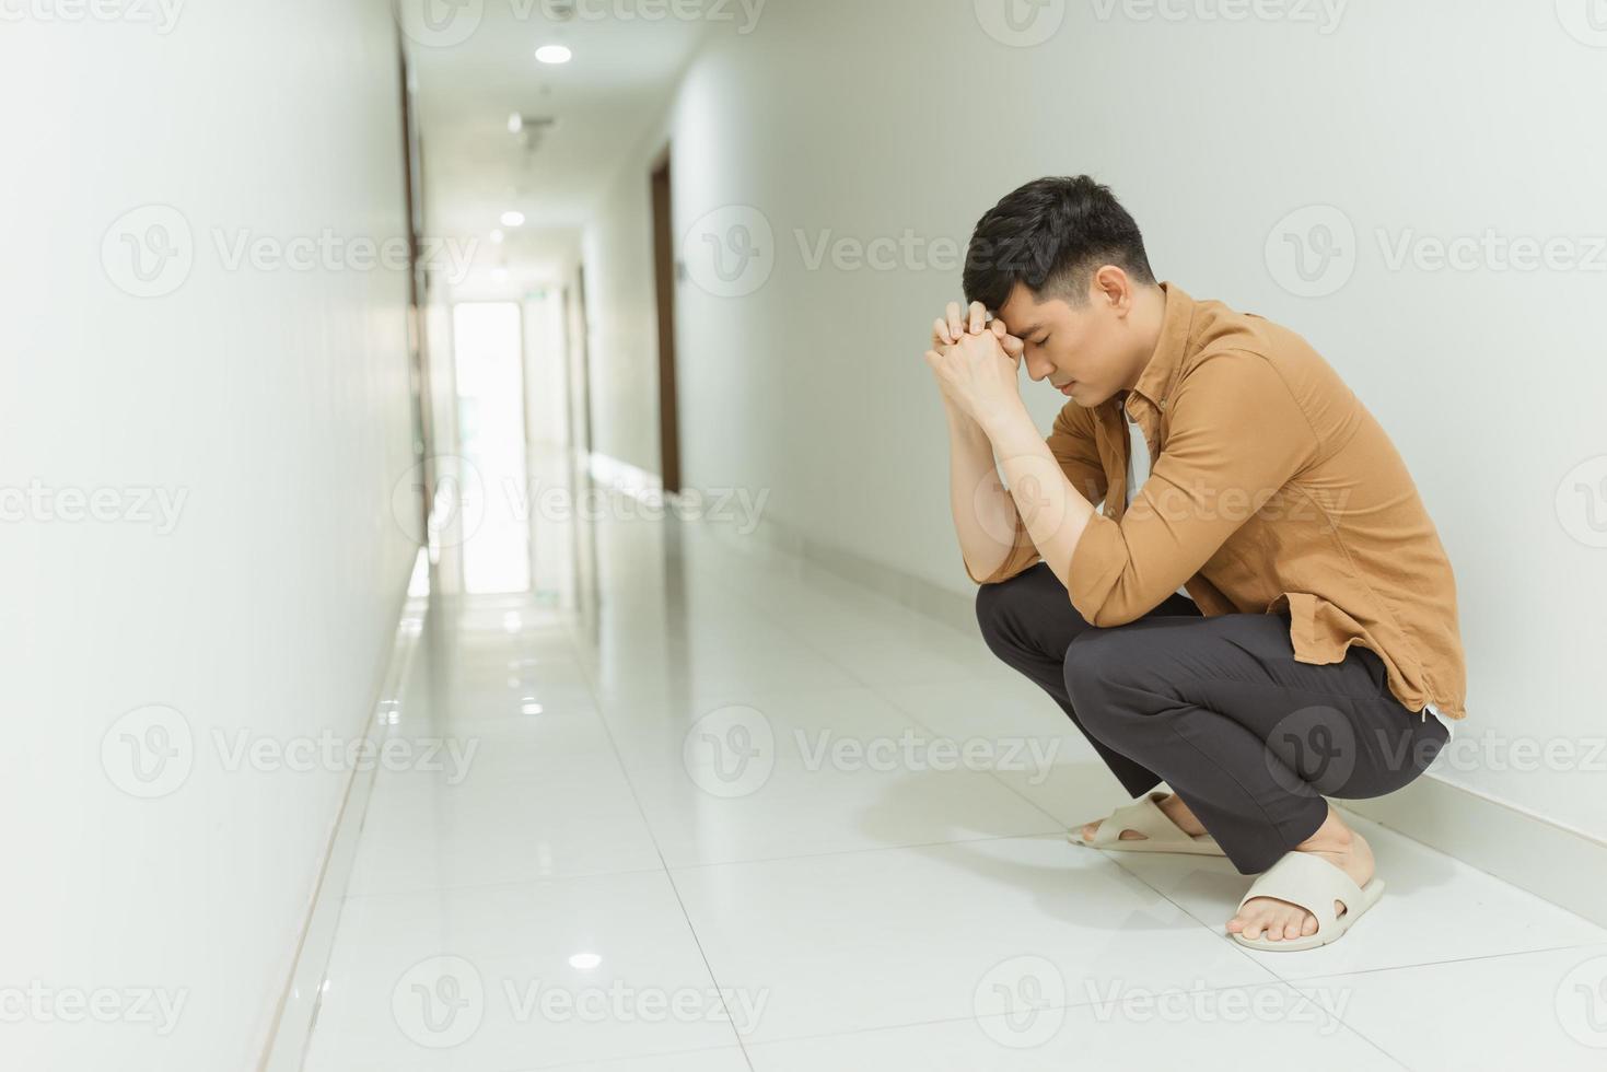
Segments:
[[[432,608],[395,731],[474,751],[378,775],[310,1072],[1607,1069],[1607,931],[1356,820],[1384,902],[1242,950],[1226,860],[1065,844],[1127,797],[980,638],[596,538],[590,620]]]

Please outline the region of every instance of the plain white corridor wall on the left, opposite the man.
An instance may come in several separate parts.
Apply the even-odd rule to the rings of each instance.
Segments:
[[[382,0],[178,5],[166,29],[138,21],[156,5],[74,10],[8,5],[0,29],[0,489],[98,492],[119,519],[0,524],[0,987],[132,1016],[8,1003],[0,1066],[249,1069],[346,775],[228,770],[214,733],[284,747],[370,717],[413,558],[405,275],[228,270],[215,233],[403,233],[395,31]],[[177,215],[114,223],[140,206]],[[153,220],[193,265],[137,297],[117,231]],[[185,497],[170,532],[130,516],[140,489]],[[133,778],[145,726],[119,720],[149,704],[193,744],[182,781],[183,754]],[[175,1030],[135,1019],[138,992],[183,998]]]

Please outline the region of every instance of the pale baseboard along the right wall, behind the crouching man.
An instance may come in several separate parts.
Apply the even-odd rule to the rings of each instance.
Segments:
[[[662,495],[654,477],[635,466],[598,461],[593,455],[590,469],[615,490],[640,493],[646,489]],[[725,526],[705,522],[704,527],[730,548],[765,556],[781,569],[799,574],[823,569],[966,635],[977,628],[971,593],[956,593],[857,551],[812,540],[771,518],[742,537]],[[958,551],[955,569],[961,569]],[[1607,898],[1601,897],[1607,887],[1607,842],[1445,781],[1432,768],[1387,797],[1342,800],[1339,807],[1607,926]]]

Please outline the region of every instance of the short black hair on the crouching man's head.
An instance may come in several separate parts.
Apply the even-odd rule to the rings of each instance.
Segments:
[[[1009,193],[977,222],[966,251],[967,302],[998,310],[1016,283],[1082,305],[1088,278],[1114,264],[1139,283],[1155,273],[1144,236],[1109,186],[1088,175],[1037,178]]]

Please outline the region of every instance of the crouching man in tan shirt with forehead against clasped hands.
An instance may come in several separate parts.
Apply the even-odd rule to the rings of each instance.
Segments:
[[[1139,797],[1072,841],[1265,873],[1228,921],[1244,945],[1340,937],[1382,879],[1324,797],[1400,789],[1466,717],[1405,463],[1300,336],[1157,283],[1086,175],[988,211],[964,289],[926,358],[983,638]],[[1022,363],[1067,399],[1048,439]]]

